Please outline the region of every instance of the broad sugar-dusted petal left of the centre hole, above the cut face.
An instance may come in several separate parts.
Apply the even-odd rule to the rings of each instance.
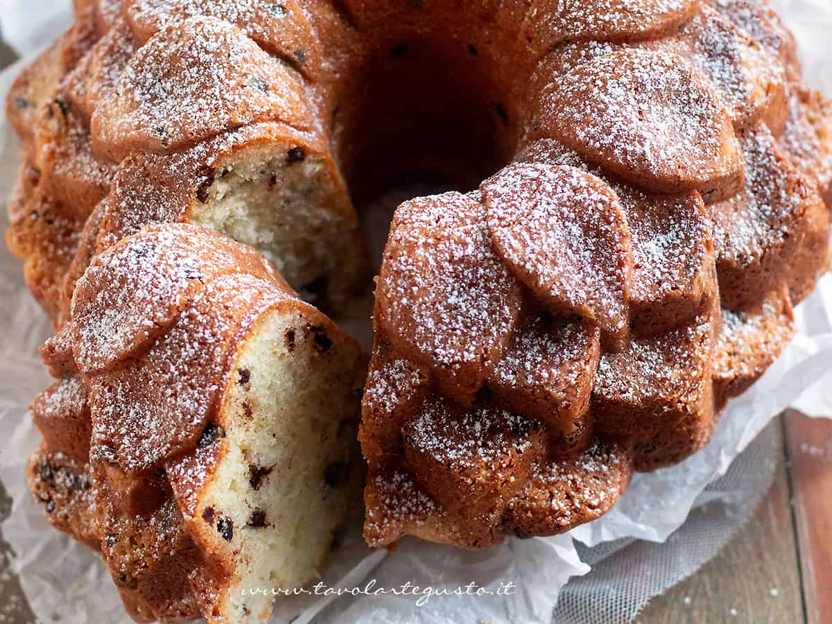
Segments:
[[[229,23],[193,17],[136,52],[92,132],[116,154],[167,151],[265,120],[308,125],[300,78]]]

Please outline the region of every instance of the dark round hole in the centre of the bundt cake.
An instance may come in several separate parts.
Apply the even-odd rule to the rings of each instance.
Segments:
[[[396,206],[473,191],[511,159],[520,120],[497,75],[484,46],[389,37],[346,81],[334,148],[376,268]]]

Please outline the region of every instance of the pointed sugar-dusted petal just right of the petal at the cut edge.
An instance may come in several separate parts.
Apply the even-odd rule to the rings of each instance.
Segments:
[[[508,166],[483,182],[488,230],[522,282],[557,313],[626,333],[631,241],[617,196],[568,166]]]

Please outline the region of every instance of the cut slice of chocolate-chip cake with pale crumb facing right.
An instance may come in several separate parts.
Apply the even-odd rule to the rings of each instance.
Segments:
[[[133,617],[254,622],[273,588],[321,576],[360,498],[364,355],[254,250],[186,224],[127,237],[92,260],[43,353],[87,405],[52,401],[36,422],[88,475],[91,539]],[[88,458],[62,448],[70,429]],[[42,463],[51,515],[67,497]],[[88,535],[73,518],[53,523]]]

